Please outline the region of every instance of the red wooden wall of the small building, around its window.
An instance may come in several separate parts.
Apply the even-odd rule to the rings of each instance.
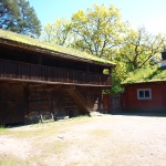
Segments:
[[[137,100],[137,89],[151,89],[152,100]],[[166,84],[135,84],[125,86],[122,108],[126,111],[166,111]]]

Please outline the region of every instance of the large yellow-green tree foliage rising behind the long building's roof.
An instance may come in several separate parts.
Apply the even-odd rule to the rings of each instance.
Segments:
[[[46,24],[43,39],[112,60],[112,53],[123,43],[125,30],[126,24],[122,22],[118,9],[94,4],[86,12],[79,10],[70,21],[59,19]]]

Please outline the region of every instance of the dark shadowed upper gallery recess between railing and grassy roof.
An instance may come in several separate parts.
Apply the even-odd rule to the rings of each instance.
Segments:
[[[65,55],[62,55],[61,53],[58,54],[58,56],[54,56],[6,44],[0,44],[0,52],[1,60],[53,66],[65,70],[103,74],[103,70],[106,68],[104,64],[93,64],[66,59],[68,56],[65,58]]]

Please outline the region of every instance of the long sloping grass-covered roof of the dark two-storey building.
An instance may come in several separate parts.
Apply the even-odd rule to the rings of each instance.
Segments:
[[[22,45],[27,45],[29,48],[31,46],[33,49],[37,48],[38,51],[40,49],[42,51],[46,50],[46,51],[50,51],[52,55],[55,55],[53,53],[60,52],[63,55],[68,54],[68,55],[72,56],[73,59],[79,58],[79,59],[89,60],[89,61],[95,62],[95,63],[115,65],[115,63],[113,63],[111,61],[100,59],[97,56],[94,56],[92,54],[87,54],[85,52],[81,52],[81,51],[77,51],[77,50],[74,50],[74,49],[70,49],[70,48],[64,48],[64,46],[61,46],[61,45],[51,44],[51,43],[48,43],[48,42],[44,42],[44,41],[41,41],[41,40],[38,40],[38,39],[33,39],[33,38],[22,35],[22,34],[18,34],[18,33],[10,32],[10,31],[0,30],[0,40],[8,40],[8,41],[11,41],[11,42],[17,42],[19,45],[22,44]]]

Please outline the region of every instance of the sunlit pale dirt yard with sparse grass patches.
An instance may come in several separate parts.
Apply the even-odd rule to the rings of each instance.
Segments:
[[[166,166],[166,117],[103,115],[0,133],[1,166]]]

